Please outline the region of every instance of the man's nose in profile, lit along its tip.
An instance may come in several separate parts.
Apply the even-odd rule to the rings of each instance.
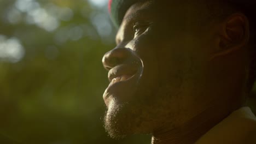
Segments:
[[[115,48],[108,51],[102,58],[103,67],[110,70],[116,65],[124,63],[129,57],[129,53],[130,50],[127,48]]]

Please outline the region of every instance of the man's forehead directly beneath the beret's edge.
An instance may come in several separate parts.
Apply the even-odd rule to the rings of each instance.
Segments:
[[[203,6],[203,7],[202,7]],[[175,20],[184,22],[185,18],[196,19],[206,13],[204,10],[206,5],[203,3],[175,0],[152,0],[137,2],[133,4],[127,11],[123,19],[123,23],[131,21],[135,17],[153,17],[166,22],[167,20]],[[202,14],[203,13],[203,14]]]

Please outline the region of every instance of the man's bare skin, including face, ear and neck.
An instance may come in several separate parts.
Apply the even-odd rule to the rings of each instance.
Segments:
[[[105,127],[112,137],[150,133],[154,144],[194,143],[243,105],[247,17],[232,13],[203,23],[205,5],[167,3],[127,10],[117,47],[102,59],[110,80]]]

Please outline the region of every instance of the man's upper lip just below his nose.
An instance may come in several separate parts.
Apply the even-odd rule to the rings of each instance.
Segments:
[[[108,80],[111,82],[114,78],[122,75],[132,76],[136,73],[137,70],[138,68],[133,64],[117,65],[108,71]]]

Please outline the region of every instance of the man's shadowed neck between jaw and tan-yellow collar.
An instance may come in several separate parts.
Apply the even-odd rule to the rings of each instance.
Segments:
[[[218,107],[218,108],[217,108]],[[226,106],[224,105],[225,109]],[[155,130],[152,144],[195,143],[203,134],[227,117],[233,110],[223,106],[212,106],[177,128],[167,127]]]

